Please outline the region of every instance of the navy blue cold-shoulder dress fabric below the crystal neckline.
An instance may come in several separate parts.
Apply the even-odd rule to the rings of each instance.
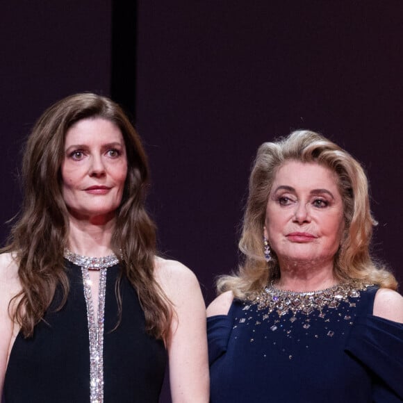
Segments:
[[[372,315],[376,291],[309,315],[234,300],[208,318],[211,403],[403,402],[403,324]]]

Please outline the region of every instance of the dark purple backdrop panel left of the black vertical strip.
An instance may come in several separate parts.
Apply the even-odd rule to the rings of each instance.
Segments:
[[[69,94],[109,93],[111,22],[106,0],[6,1],[0,15],[3,224],[19,208],[20,151],[35,120]]]

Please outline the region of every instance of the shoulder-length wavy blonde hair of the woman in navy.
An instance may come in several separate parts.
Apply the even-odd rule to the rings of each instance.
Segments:
[[[260,291],[268,282],[279,279],[277,256],[266,263],[263,253],[263,228],[268,197],[274,177],[287,161],[318,163],[338,177],[343,199],[345,231],[334,256],[334,275],[339,281],[357,279],[384,288],[397,288],[393,274],[370,256],[372,227],[377,224],[370,212],[368,180],[361,165],[347,151],[313,131],[294,131],[276,142],[259,147],[249,178],[249,197],[245,208],[239,249],[245,256],[236,274],[217,281],[219,293],[232,290],[240,299]]]

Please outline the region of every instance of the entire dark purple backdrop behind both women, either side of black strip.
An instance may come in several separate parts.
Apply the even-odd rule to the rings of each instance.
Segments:
[[[3,4],[1,222],[18,209],[19,150],[42,110],[73,92],[115,94],[112,70],[130,74],[111,69],[112,3]],[[322,132],[363,163],[379,220],[374,252],[403,282],[402,11],[400,0],[138,1],[137,41],[127,35],[119,45],[131,63],[137,47],[149,210],[161,250],[195,271],[206,302],[214,277],[237,265],[258,145],[299,128]],[[130,95],[133,77],[126,89],[119,78]],[[0,231],[4,239],[8,228]],[[170,401],[166,392],[161,401]]]

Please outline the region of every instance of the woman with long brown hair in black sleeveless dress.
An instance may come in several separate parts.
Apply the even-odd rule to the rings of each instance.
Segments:
[[[207,402],[199,284],[157,257],[147,158],[122,109],[58,101],[28,138],[22,179],[0,255],[6,402],[158,402],[167,356],[173,402]]]

